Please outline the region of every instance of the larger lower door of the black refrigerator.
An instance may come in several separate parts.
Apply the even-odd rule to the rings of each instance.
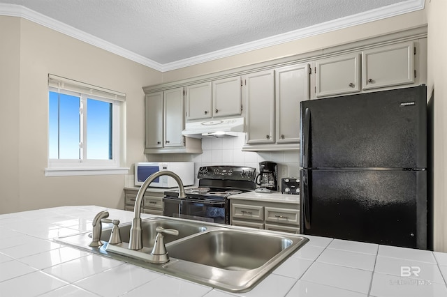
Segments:
[[[427,172],[302,170],[301,233],[427,248]]]

